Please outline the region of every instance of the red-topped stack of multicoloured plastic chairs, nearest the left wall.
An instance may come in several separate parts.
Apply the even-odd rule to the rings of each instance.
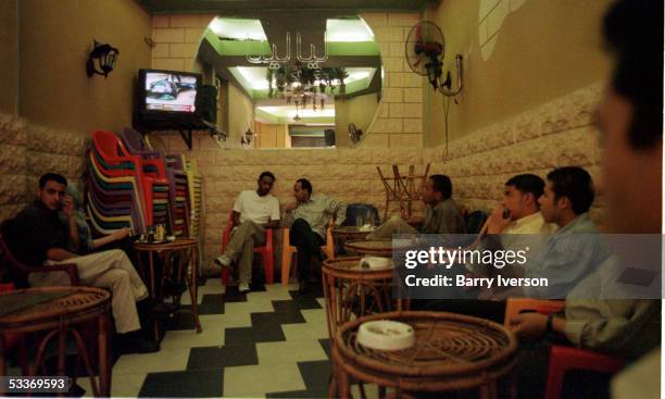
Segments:
[[[88,157],[88,212],[101,234],[170,226],[168,180],[159,159],[133,155],[113,133],[97,130]]]

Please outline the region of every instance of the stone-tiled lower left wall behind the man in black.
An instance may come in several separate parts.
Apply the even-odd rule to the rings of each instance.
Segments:
[[[80,185],[87,140],[78,132],[0,114],[0,220],[13,216],[33,200],[43,173],[60,173]]]

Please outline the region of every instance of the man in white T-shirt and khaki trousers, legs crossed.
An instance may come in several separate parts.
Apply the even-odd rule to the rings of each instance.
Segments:
[[[271,195],[275,175],[263,172],[256,190],[244,190],[236,199],[233,210],[234,230],[226,251],[215,259],[222,267],[238,265],[238,290],[250,291],[254,247],[265,245],[265,229],[279,226],[279,201]]]

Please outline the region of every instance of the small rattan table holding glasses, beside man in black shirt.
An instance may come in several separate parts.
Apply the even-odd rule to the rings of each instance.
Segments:
[[[197,333],[201,333],[201,323],[199,321],[199,308],[198,308],[198,284],[197,284],[197,275],[198,267],[197,261],[199,259],[198,252],[198,244],[197,240],[192,238],[178,238],[173,242],[162,242],[162,244],[148,244],[148,242],[134,242],[134,249],[138,252],[139,260],[141,263],[141,274],[143,280],[149,280],[149,291],[150,296],[155,299],[163,298],[164,290],[164,277],[166,276],[167,271],[174,271],[174,262],[173,254],[176,252],[180,252],[183,255],[178,259],[177,264],[175,265],[175,275],[177,280],[181,280],[183,277],[186,278],[187,286],[189,288],[189,297],[191,299],[191,313],[193,314]],[[149,275],[146,276],[146,265],[143,264],[143,257],[141,252],[148,254],[148,272]],[[159,257],[162,261],[162,279],[159,282],[159,286],[155,282],[155,271],[154,271],[154,257]],[[189,270],[188,270],[189,267]],[[149,278],[147,278],[149,277]],[[179,296],[174,298],[176,303],[179,303]],[[159,339],[160,332],[158,328],[158,324],[154,323],[154,335],[155,338]]]

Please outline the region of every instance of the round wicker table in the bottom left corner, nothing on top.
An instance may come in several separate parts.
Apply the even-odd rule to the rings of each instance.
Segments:
[[[66,336],[72,334],[78,356],[90,376],[96,397],[111,395],[111,366],[109,360],[109,328],[111,294],[93,287],[42,287],[0,294],[2,301],[34,303],[0,315],[0,375],[7,375],[3,340],[7,334],[47,332],[39,341],[35,370],[32,375],[50,375],[43,364],[47,344],[58,339],[58,375],[65,375]],[[98,327],[99,385],[95,377],[86,339],[81,331],[90,332],[91,323]],[[83,327],[83,328],[81,328]],[[85,332],[84,332],[85,335]],[[91,335],[88,334],[88,337]],[[89,341],[89,339],[88,339]],[[75,379],[75,377],[74,377]]]

